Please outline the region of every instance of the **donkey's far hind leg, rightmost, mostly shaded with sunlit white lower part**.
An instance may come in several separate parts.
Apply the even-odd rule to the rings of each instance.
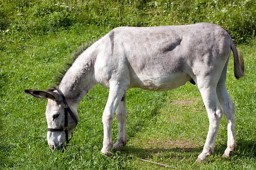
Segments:
[[[223,72],[220,76],[220,80],[218,82],[217,89],[216,89],[220,105],[223,109],[223,113],[225,115],[225,118],[228,124],[228,147],[226,148],[222,157],[230,157],[232,156],[233,151],[236,150],[236,137],[235,137],[236,107],[231,101],[225,85],[227,67],[228,67],[228,61],[223,69]]]

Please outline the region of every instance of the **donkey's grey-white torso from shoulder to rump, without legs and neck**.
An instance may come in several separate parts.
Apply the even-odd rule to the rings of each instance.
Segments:
[[[126,77],[129,87],[147,90],[176,88],[206,75],[211,75],[217,83],[233,43],[228,32],[210,23],[119,27],[105,38],[107,79]]]

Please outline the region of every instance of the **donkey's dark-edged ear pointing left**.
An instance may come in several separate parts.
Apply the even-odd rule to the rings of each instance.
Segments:
[[[56,97],[55,97],[55,93],[53,92],[54,90],[53,89],[47,89],[45,91],[40,91],[40,90],[24,90],[25,93],[28,93],[34,97],[37,97],[37,98],[42,98],[42,99],[45,99],[45,100],[48,100],[48,99],[52,99],[52,100],[55,100]]]

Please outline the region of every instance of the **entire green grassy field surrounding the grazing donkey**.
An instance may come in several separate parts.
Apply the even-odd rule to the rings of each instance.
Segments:
[[[140,159],[182,170],[256,169],[255,13],[256,2],[252,0],[236,3],[3,0],[0,3],[0,169],[174,169]],[[108,89],[97,85],[79,105],[79,123],[70,146],[61,151],[50,150],[44,114],[47,101],[27,96],[23,90],[44,90],[54,84],[54,76],[71,59],[74,50],[117,26],[197,22],[223,26],[243,53],[245,76],[236,80],[231,55],[226,82],[237,108],[237,150],[233,158],[221,158],[227,143],[223,116],[215,152],[206,162],[195,163],[209,122],[200,92],[189,82],[164,92],[128,90],[128,143],[121,152],[112,151],[110,157],[100,154],[101,117]],[[115,142],[116,119],[112,134]]]

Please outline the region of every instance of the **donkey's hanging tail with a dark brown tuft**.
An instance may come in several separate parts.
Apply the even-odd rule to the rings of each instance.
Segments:
[[[237,79],[243,77],[244,75],[244,62],[243,62],[243,55],[242,53],[240,53],[238,55],[236,46],[233,42],[233,40],[230,38],[230,46],[231,46],[231,50],[233,52],[234,55],[234,73],[235,73],[235,77]]]

